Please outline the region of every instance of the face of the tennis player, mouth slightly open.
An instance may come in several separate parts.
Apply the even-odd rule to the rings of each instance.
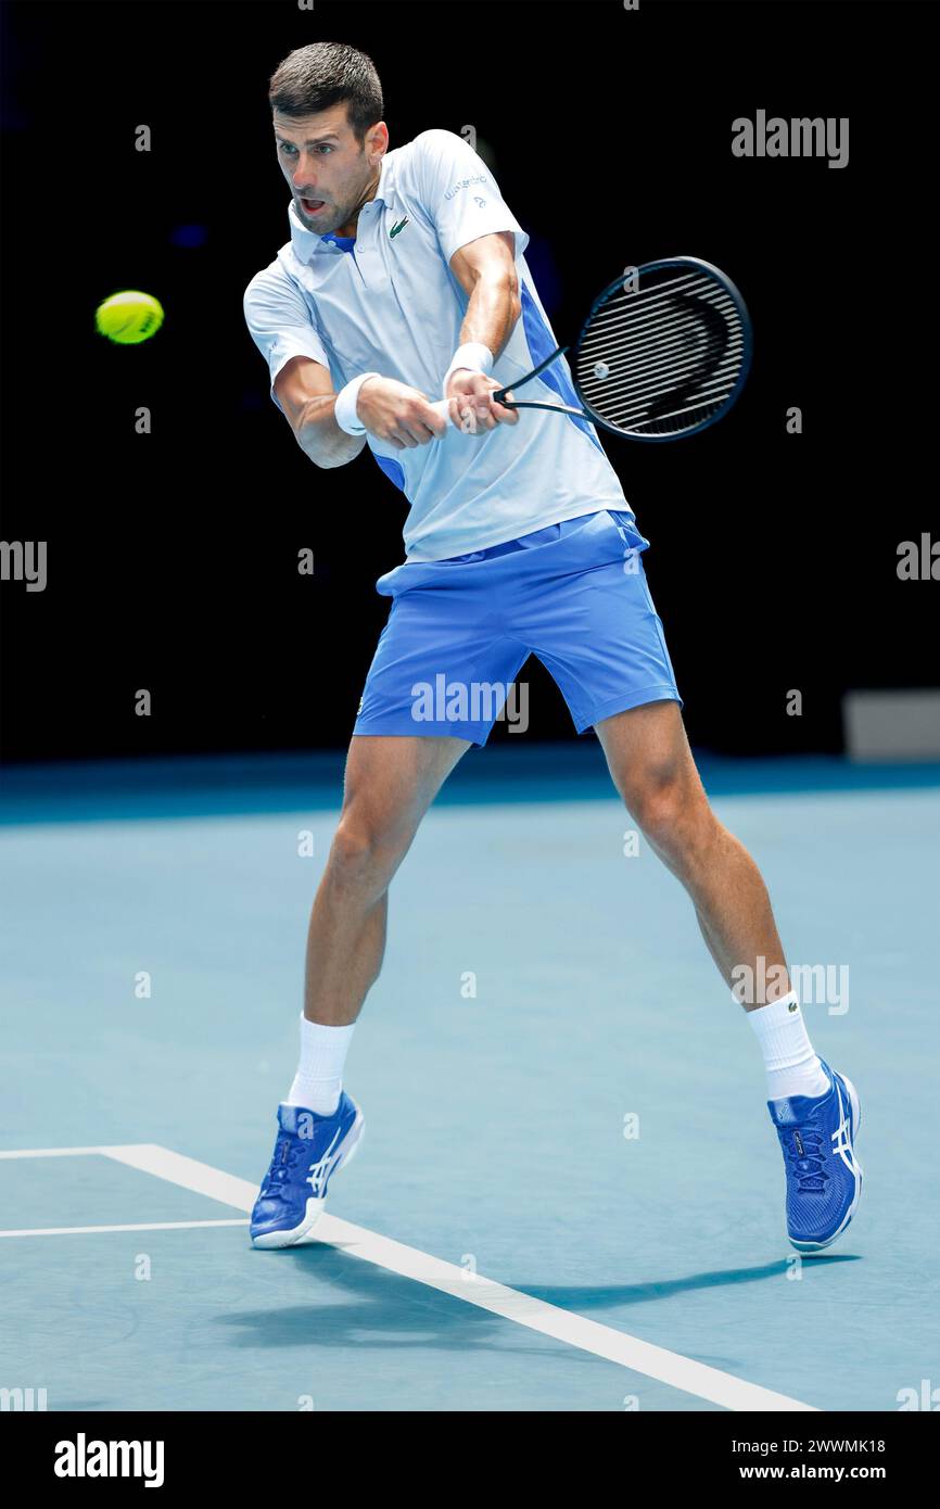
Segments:
[[[303,119],[275,110],[273,125],[278,160],[300,223],[317,235],[355,235],[359,210],[379,187],[388,146],[385,121],[365,133],[364,148],[346,119],[346,103]]]

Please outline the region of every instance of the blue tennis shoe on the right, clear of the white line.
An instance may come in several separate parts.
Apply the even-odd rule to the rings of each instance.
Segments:
[[[766,1103],[786,1165],[786,1234],[797,1252],[809,1257],[842,1236],[862,1194],[859,1094],[828,1064],[822,1062],[822,1070],[830,1080],[827,1094]]]

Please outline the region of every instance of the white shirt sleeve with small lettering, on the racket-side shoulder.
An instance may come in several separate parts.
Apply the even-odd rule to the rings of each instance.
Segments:
[[[528,234],[510,211],[483,158],[456,131],[421,131],[413,139],[418,193],[445,260],[468,241],[495,231],[515,231],[516,258]]]

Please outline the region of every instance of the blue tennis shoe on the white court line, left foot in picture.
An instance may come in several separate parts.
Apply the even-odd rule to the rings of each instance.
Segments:
[[[278,1141],[252,1210],[255,1246],[293,1246],[317,1224],[326,1189],[356,1153],[365,1120],[346,1091],[332,1117],[278,1106]]]

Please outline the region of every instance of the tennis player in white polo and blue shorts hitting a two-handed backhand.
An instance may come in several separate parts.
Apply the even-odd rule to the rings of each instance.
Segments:
[[[315,466],[346,466],[368,445],[409,512],[406,560],[376,584],[391,610],[312,907],[300,1059],[252,1240],[303,1237],[362,1138],[343,1076],[382,967],[389,883],[447,776],[502,711],[474,690],[510,687],[534,653],[578,733],[594,729],[614,786],[745,1007],[783,1148],[788,1236],[819,1252],[859,1203],[859,1099],[816,1056],[763,880],[702,788],[643,569],[649,540],[593,424],[490,398],[557,347],[528,235],[462,136],[429,130],[389,149],[364,53],[297,48],[269,103],[290,240],[252,278],[244,315],[272,398]],[[558,187],[576,210],[575,187]],[[527,394],[578,403],[563,359]],[[432,409],[441,397],[448,418]],[[418,705],[418,688],[438,685],[447,705]]]

